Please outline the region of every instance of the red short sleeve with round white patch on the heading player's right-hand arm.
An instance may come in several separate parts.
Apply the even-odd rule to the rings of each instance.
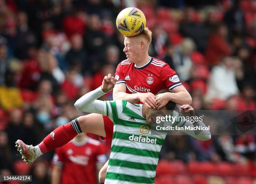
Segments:
[[[163,80],[166,88],[169,90],[182,85],[182,83],[179,81],[177,73],[171,69],[168,64],[165,64],[161,70],[161,79]]]

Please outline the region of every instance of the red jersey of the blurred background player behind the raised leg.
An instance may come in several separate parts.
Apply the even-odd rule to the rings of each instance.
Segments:
[[[96,165],[107,161],[99,141],[87,137],[83,143],[74,140],[57,148],[53,163],[62,165],[61,184],[97,184]]]

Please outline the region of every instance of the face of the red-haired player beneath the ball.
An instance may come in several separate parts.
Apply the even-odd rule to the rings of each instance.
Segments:
[[[136,62],[141,56],[141,43],[138,39],[133,37],[125,37],[124,39],[124,49],[125,55],[129,62]]]

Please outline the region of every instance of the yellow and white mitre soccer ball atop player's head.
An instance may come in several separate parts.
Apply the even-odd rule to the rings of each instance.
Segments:
[[[117,16],[116,26],[124,36],[135,36],[144,30],[146,18],[138,8],[125,8]]]

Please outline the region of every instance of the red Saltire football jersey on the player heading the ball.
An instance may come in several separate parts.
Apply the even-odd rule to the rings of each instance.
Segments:
[[[118,64],[115,72],[116,84],[125,83],[126,93],[151,92],[156,94],[161,89],[172,90],[182,85],[177,73],[159,59],[151,57],[147,64],[137,67],[128,60]]]

